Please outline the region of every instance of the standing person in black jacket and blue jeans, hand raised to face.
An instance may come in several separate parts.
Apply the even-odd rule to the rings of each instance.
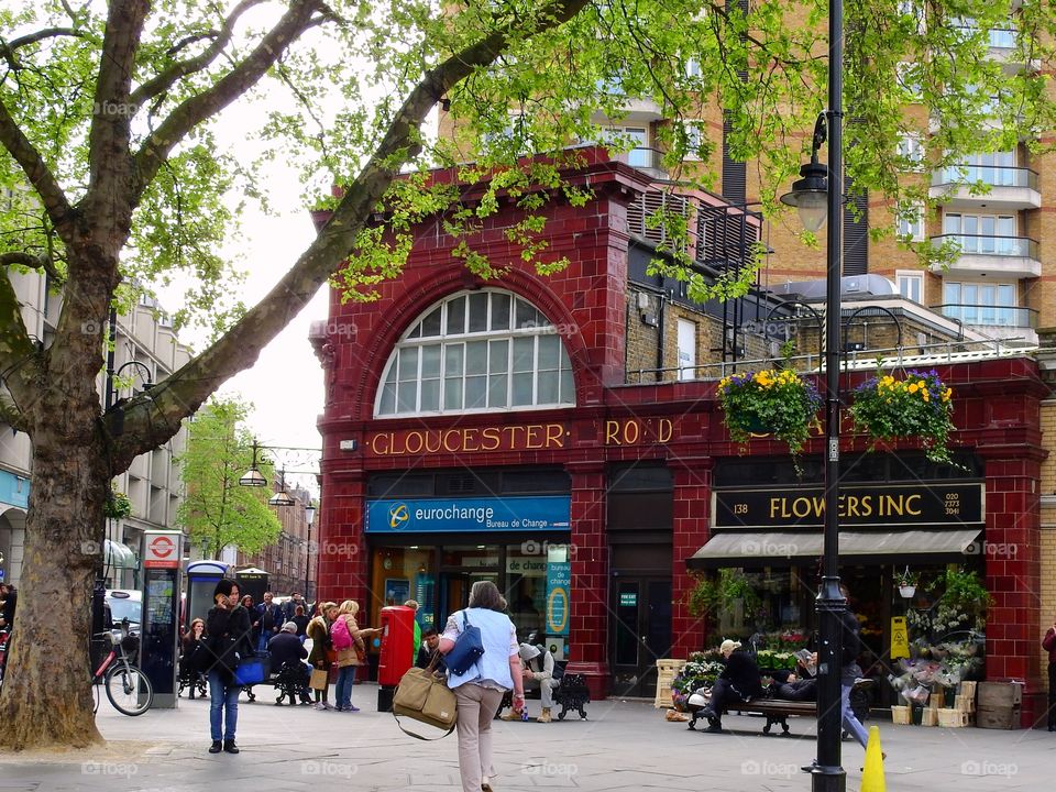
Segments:
[[[206,634],[212,656],[209,667],[209,728],[212,735],[210,754],[221,750],[238,754],[234,743],[239,723],[239,692],[234,670],[239,661],[253,652],[250,612],[239,604],[239,584],[228,578],[217,583],[216,603],[206,614]],[[221,739],[223,740],[221,743]]]

